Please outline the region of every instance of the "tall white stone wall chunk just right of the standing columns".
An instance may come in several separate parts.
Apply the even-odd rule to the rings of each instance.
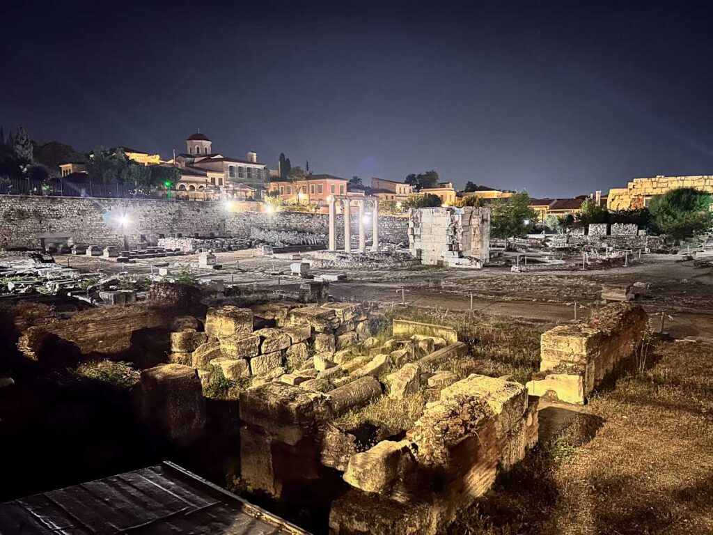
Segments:
[[[490,208],[409,210],[409,249],[421,264],[482,267],[489,244]]]

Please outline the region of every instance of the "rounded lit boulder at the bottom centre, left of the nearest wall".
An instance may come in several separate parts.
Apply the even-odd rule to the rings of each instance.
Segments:
[[[366,452],[352,455],[343,479],[356,489],[383,494],[394,485],[404,459],[412,459],[409,441],[382,440]]]

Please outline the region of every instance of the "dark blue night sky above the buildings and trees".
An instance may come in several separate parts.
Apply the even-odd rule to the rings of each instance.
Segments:
[[[707,4],[6,2],[0,124],[568,196],[713,173]]]

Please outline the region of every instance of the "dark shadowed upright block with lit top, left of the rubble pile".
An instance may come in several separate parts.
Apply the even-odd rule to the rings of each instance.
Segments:
[[[140,416],[176,444],[194,442],[205,427],[205,399],[198,373],[180,364],[143,370]]]

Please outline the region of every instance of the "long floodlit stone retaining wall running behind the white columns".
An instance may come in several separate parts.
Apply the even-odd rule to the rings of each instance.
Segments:
[[[247,239],[251,227],[324,234],[329,220],[328,215],[312,213],[230,212],[220,202],[0,195],[0,247],[36,248],[41,238],[121,246],[123,232],[118,218],[123,213],[130,220],[125,230],[130,244],[138,243],[142,235],[155,242],[161,234],[168,237],[179,233],[185,237],[213,233]],[[342,222],[342,216],[337,216],[340,240]],[[352,218],[353,240],[358,240],[356,222]],[[379,239],[408,243],[407,228],[406,218],[379,218]]]

